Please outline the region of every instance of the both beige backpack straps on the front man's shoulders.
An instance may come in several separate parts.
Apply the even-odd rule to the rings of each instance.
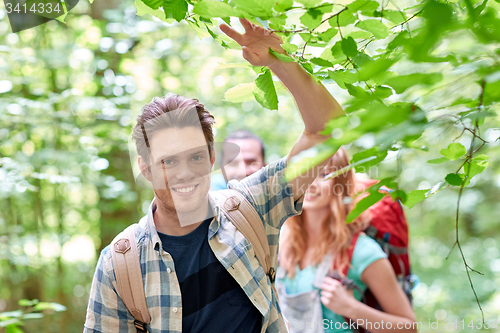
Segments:
[[[236,229],[252,244],[255,256],[271,281],[276,295],[274,280],[276,268],[271,264],[267,234],[255,208],[236,190],[211,192],[213,199],[223,202],[220,208]],[[116,275],[117,293],[134,317],[138,333],[147,332],[151,317],[146,305],[139,253],[135,240],[135,225],[125,229],[111,243],[111,258]]]

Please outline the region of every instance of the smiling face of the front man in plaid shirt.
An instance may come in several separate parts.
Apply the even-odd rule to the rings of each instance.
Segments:
[[[149,143],[148,180],[156,199],[178,214],[205,207],[214,161],[210,159],[203,131],[197,127],[166,128],[154,132]]]

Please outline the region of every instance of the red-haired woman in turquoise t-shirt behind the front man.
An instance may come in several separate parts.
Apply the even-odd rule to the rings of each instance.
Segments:
[[[351,237],[367,226],[368,217],[346,223],[354,206],[353,170],[323,180],[348,165],[347,153],[340,149],[307,190],[302,215],[288,219],[282,229],[276,286],[289,330],[356,332],[345,320],[349,318],[373,333],[416,332],[411,304],[380,246],[361,233],[348,262]],[[333,263],[337,272],[350,265],[347,278],[356,286],[354,293],[327,276]],[[367,288],[383,312],[360,301]]]

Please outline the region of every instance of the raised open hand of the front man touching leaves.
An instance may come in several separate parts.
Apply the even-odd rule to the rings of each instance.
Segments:
[[[230,38],[242,46],[243,58],[253,66],[272,66],[279,62],[278,58],[269,52],[269,48],[278,53],[285,53],[281,47],[283,41],[279,36],[267,29],[250,23],[247,19],[240,22],[245,28],[245,33],[240,34],[227,24],[221,24],[220,29]]]

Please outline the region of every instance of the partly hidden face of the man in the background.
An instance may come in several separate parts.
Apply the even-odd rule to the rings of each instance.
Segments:
[[[232,179],[242,180],[250,176],[254,172],[260,170],[264,166],[264,158],[262,157],[262,147],[256,139],[238,139],[228,140],[240,147],[238,156],[226,164],[224,159],[227,155],[223,153],[223,173],[227,181]]]

